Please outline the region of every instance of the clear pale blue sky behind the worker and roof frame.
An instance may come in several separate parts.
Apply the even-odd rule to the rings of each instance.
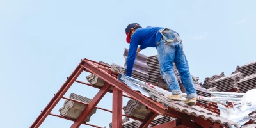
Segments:
[[[205,77],[256,61],[255,1],[0,1],[0,127],[29,127],[81,58],[124,65],[125,27],[177,31],[191,74]],[[151,56],[156,49],[141,53]],[[79,80],[86,81],[84,73]],[[93,98],[97,89],[74,84],[66,93]],[[108,93],[98,106],[111,109]],[[61,100],[52,113],[59,114]],[[124,99],[124,105],[127,99]],[[90,124],[109,127],[98,110]],[[70,127],[48,116],[43,128]],[[82,125],[81,127],[89,127]]]

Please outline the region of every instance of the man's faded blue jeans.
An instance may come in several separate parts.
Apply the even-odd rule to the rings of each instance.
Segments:
[[[173,72],[173,61],[179,71],[181,82],[186,89],[187,99],[193,97],[197,98],[195,86],[191,74],[189,72],[189,65],[183,51],[182,41],[179,34],[173,33],[171,30],[159,31],[163,38],[157,45],[158,61],[160,65],[160,73],[164,81],[168,84],[168,88],[174,95],[182,93],[179,83]]]

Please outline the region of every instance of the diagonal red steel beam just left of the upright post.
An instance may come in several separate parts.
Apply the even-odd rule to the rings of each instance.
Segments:
[[[99,92],[93,97],[91,102],[88,104],[88,106],[84,109],[84,111],[79,115],[79,117],[76,119],[74,124],[71,125],[70,128],[78,128],[84,120],[87,118],[88,115],[92,112],[92,110],[95,108],[95,106],[99,103],[99,101],[102,99],[102,97],[108,92],[109,88],[111,88],[111,84],[105,83],[102,88],[99,90]]]

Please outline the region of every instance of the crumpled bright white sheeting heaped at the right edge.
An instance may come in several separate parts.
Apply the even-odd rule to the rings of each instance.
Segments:
[[[218,104],[218,109],[220,109],[220,116],[223,118],[228,118],[239,124],[241,127],[243,124],[250,120],[248,114],[256,110],[256,89],[249,90],[241,99],[241,104],[237,108],[228,109],[222,104]]]

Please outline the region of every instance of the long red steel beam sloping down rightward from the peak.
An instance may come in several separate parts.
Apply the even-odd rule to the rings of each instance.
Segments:
[[[108,82],[109,84],[112,84],[113,86],[118,88],[118,90],[120,90],[124,93],[127,93],[132,98],[134,98],[135,100],[138,100],[139,102],[141,102],[141,104],[144,104],[145,106],[152,109],[159,115],[163,115],[163,116],[165,115],[166,108],[164,108],[163,104],[157,104],[152,99],[145,97],[141,93],[131,90],[131,88],[129,88],[126,84],[118,81],[118,79],[114,79],[107,72],[104,72],[103,70],[95,67],[95,65],[90,63],[90,60],[83,60],[83,61],[84,61],[84,63],[81,64],[81,67],[86,68],[86,70],[88,70],[89,72],[92,72],[93,74],[99,76],[104,81]]]

